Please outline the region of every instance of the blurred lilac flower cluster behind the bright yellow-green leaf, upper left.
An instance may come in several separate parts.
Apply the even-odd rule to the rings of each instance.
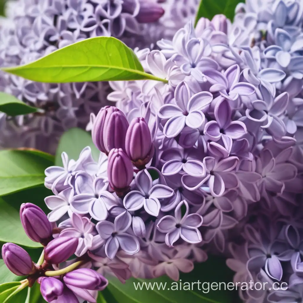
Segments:
[[[7,6],[0,24],[1,67],[26,64],[95,36],[115,36],[131,47],[150,45],[143,23],[164,13],[160,4],[146,0],[18,0]],[[1,72],[0,91],[39,109],[15,118],[0,113],[1,146],[55,153],[62,132],[85,128],[89,114],[106,104],[110,87],[106,82],[42,84]]]

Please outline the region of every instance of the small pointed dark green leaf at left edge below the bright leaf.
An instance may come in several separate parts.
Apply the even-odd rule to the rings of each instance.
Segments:
[[[9,116],[18,116],[37,112],[37,108],[25,104],[12,95],[0,92],[0,112]]]

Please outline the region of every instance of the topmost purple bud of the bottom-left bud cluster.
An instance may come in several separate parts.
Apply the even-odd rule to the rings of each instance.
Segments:
[[[52,236],[52,223],[37,205],[23,203],[20,207],[20,220],[26,235],[32,241],[42,243]]]

